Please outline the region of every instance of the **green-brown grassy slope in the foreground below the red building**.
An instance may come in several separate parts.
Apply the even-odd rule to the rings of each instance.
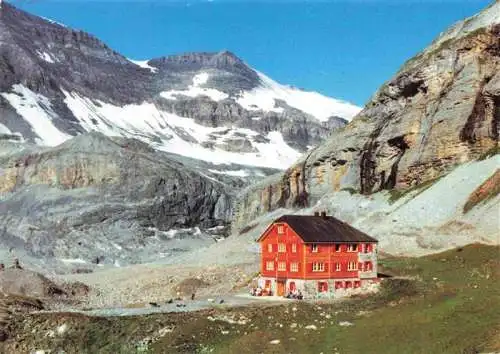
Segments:
[[[471,245],[422,258],[389,258],[380,295],[336,304],[215,308],[136,318],[46,314],[18,318],[0,349],[66,353],[476,353],[500,350],[500,248]],[[405,279],[405,277],[407,279]],[[245,318],[245,324],[209,316]],[[242,317],[243,316],[243,317]],[[354,325],[339,326],[340,321]],[[65,323],[63,335],[46,337]],[[290,328],[292,323],[296,328]],[[315,325],[316,330],[306,329]],[[174,328],[158,335],[161,328]],[[141,345],[146,337],[154,338]],[[279,344],[270,344],[272,340]]]

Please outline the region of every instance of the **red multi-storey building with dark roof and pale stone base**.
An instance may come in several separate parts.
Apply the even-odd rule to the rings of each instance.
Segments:
[[[258,242],[259,287],[275,295],[328,297],[377,282],[378,241],[324,212],[284,215]]]

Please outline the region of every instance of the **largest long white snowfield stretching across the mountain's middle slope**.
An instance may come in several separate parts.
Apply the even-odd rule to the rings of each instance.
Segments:
[[[279,132],[268,134],[268,143],[253,142],[259,134],[246,128],[206,127],[192,118],[179,117],[158,110],[152,104],[122,107],[93,101],[77,93],[65,94],[65,103],[87,131],[100,131],[109,136],[127,136],[150,143],[158,150],[209,161],[214,164],[242,164],[270,168],[287,168],[300,153],[291,148]],[[237,153],[201,144],[222,144],[233,135],[245,136],[257,152]]]

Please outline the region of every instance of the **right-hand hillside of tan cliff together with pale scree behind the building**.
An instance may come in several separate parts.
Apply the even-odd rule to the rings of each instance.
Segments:
[[[499,166],[499,14],[497,1],[444,32],[348,125],[284,174],[241,193],[235,232],[272,211],[323,208],[371,232],[387,251],[498,242],[498,190],[478,203],[481,211],[463,205]]]

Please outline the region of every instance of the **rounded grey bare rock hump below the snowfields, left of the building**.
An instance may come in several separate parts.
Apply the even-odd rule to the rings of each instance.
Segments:
[[[139,141],[13,145],[0,149],[3,249],[81,267],[151,261],[215,242],[232,215],[234,185]]]

